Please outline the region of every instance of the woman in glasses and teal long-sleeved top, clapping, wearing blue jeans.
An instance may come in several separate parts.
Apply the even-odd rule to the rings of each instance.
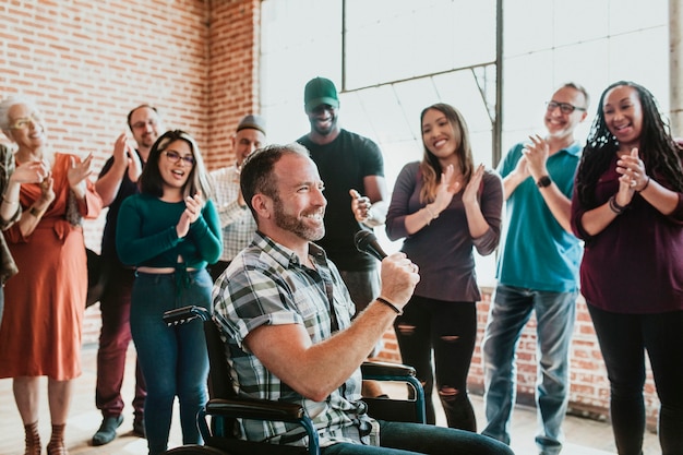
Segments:
[[[131,333],[147,385],[145,432],[151,455],[168,445],[173,399],[180,403],[183,444],[201,444],[196,414],[206,403],[208,357],[201,323],[168,327],[165,311],[211,307],[207,264],[223,241],[212,187],[200,149],[188,133],[168,131],[152,146],[140,194],[122,204],[117,251],[135,266]]]

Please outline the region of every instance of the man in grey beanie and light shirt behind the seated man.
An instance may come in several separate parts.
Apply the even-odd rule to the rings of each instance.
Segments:
[[[251,242],[256,221],[240,191],[240,169],[244,159],[265,145],[265,120],[261,116],[244,116],[231,137],[235,164],[211,172],[216,188],[216,206],[223,227],[223,255],[211,266],[216,280],[232,259]]]

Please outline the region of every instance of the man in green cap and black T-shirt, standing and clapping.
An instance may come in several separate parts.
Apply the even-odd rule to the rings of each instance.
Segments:
[[[379,262],[356,249],[354,236],[384,224],[387,190],[382,152],[371,140],[339,128],[339,98],[332,81],[309,81],[303,101],[311,131],[297,142],[311,152],[327,199],[325,237],[316,243],[339,270],[358,313],[380,291]]]

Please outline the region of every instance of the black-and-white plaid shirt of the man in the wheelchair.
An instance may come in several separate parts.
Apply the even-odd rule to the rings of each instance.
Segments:
[[[315,270],[304,267],[291,250],[256,232],[253,242],[216,280],[214,320],[226,340],[227,360],[239,395],[300,404],[319,431],[321,446],[366,443],[371,419],[360,400],[360,369],[327,399],[317,403],[272,374],[243,345],[247,335],[261,325],[302,325],[314,344],[329,338],[335,332],[329,298],[339,330],[350,325],[355,307],[339,272],[315,244],[310,243],[309,252]],[[308,442],[301,427],[295,423],[241,423],[242,436],[250,441],[291,445]]]

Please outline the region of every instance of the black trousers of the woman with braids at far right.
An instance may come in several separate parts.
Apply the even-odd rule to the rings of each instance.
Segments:
[[[622,314],[588,304],[610,379],[610,416],[620,455],[640,455],[645,350],[661,403],[662,455],[683,454],[683,311]]]

